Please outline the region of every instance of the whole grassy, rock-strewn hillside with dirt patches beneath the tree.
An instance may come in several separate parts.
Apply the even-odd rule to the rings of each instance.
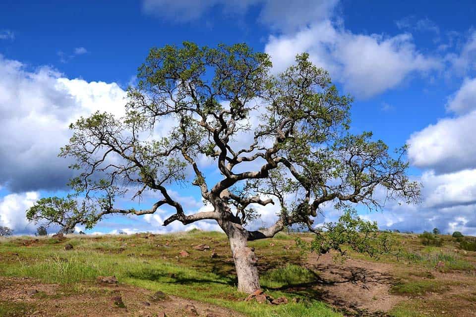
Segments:
[[[295,239],[311,239],[307,234],[251,242],[263,290],[289,300],[277,306],[243,301],[227,238],[219,232],[11,237],[0,240],[0,316],[100,316],[94,314],[110,310],[103,316],[192,316],[187,303],[199,316],[474,316],[476,252],[461,250],[450,236],[439,236],[440,247],[425,246],[416,235],[395,236],[402,252],[378,262],[350,251],[343,263],[332,254],[305,254]],[[193,248],[201,244],[210,249]],[[118,285],[97,281],[110,275]],[[27,294],[29,289],[37,292]],[[169,299],[151,301],[156,291]],[[124,307],[111,302],[116,296]]]

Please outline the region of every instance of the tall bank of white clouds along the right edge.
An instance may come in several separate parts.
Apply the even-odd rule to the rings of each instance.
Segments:
[[[448,116],[412,134],[410,162],[423,168],[422,204],[402,227],[439,227],[476,234],[476,81],[466,79],[446,105]],[[406,211],[404,209],[404,211]],[[419,225],[416,225],[419,224]]]

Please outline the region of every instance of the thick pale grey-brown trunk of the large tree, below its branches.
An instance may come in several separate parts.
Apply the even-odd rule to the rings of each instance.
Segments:
[[[238,291],[253,293],[260,289],[257,260],[254,255],[254,248],[248,248],[246,230],[238,228],[238,226],[231,224],[229,230],[225,231],[230,240],[237,270]]]

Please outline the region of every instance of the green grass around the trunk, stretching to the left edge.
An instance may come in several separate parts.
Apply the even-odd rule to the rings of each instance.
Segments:
[[[246,294],[237,291],[233,262],[223,234],[192,231],[149,239],[143,236],[75,237],[53,244],[50,239],[40,239],[31,246],[23,246],[21,238],[13,238],[0,243],[0,254],[12,255],[0,263],[0,275],[27,276],[62,285],[94,281],[100,275],[116,275],[120,283],[208,302],[251,317],[342,317],[322,302],[277,290],[312,279],[310,271],[293,264],[271,270],[267,270],[266,265],[261,268],[267,293],[273,297],[287,296],[289,304],[271,306],[244,302]],[[254,247],[262,246],[259,252],[269,259],[266,264],[277,266],[282,261],[292,263],[300,259],[297,250],[283,248],[292,240],[283,235],[266,240],[266,245],[261,241],[255,243]],[[71,243],[74,249],[63,250],[65,243]],[[209,252],[191,248],[202,243],[217,250],[219,257],[211,259]],[[270,243],[275,246],[270,247]],[[177,259],[180,249],[188,250],[190,257]],[[301,301],[293,303],[293,297]]]

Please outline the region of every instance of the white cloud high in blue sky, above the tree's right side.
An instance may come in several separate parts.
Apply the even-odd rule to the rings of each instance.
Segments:
[[[360,98],[395,88],[412,73],[426,74],[441,67],[437,58],[416,50],[408,33],[354,34],[330,20],[292,35],[270,36],[265,51],[276,71],[291,65],[296,54],[307,52],[316,65],[329,70],[346,91]]]

